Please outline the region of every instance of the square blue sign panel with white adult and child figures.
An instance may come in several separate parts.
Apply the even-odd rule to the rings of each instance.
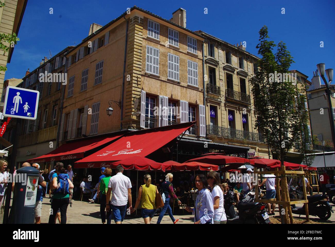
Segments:
[[[3,115],[6,117],[35,120],[40,92],[8,86],[6,88]]]

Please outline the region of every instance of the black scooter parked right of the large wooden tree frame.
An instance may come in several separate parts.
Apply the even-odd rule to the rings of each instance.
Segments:
[[[334,213],[332,206],[328,202],[328,196],[322,194],[307,196],[309,215],[317,216],[321,220],[328,220],[331,213]],[[292,213],[297,215],[306,215],[305,204],[302,207],[291,206]]]

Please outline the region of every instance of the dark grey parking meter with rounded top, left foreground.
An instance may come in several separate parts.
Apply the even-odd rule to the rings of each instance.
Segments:
[[[34,224],[39,170],[22,167],[16,170],[11,224]]]

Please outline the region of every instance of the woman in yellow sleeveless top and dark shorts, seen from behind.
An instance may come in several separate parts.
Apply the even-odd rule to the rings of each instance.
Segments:
[[[132,209],[132,213],[137,209],[141,201],[144,224],[150,224],[150,221],[156,212],[155,199],[158,190],[155,185],[151,184],[151,176],[149,174],[144,175],[144,183],[145,184],[141,185],[138,190],[138,197],[135,208]]]

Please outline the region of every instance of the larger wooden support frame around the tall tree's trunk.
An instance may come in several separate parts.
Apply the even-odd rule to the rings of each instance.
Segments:
[[[258,168],[257,168],[258,170]],[[308,200],[307,200],[307,191],[306,191],[306,182],[305,182],[305,172],[303,171],[303,168],[300,167],[299,170],[295,171],[286,171],[285,166],[281,166],[280,170],[278,168],[275,171],[255,171],[256,174],[275,174],[276,177],[280,177],[281,185],[279,186],[279,179],[276,179],[276,196],[277,198],[273,199],[260,199],[259,198],[259,187],[258,187],[258,178],[257,178],[257,184],[255,186],[255,201],[257,202],[263,202],[263,203],[274,203],[278,204],[279,206],[279,214],[281,217],[281,223],[282,224],[293,224],[293,216],[292,216],[292,210],[291,210],[291,204],[295,203],[304,203],[305,204],[305,210],[306,210],[306,221],[309,221],[309,213],[308,213]],[[288,193],[288,187],[287,187],[287,179],[286,175],[296,175],[296,176],[302,176],[302,182],[303,182],[303,193],[304,193],[304,199],[290,199],[289,193]],[[258,176],[258,175],[257,175]],[[280,189],[281,188],[281,194]],[[285,214],[281,214],[281,209],[283,208],[285,211]]]

